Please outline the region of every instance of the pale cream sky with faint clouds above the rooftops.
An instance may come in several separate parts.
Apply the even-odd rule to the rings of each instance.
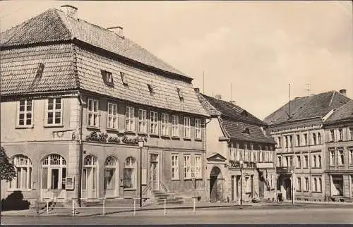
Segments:
[[[124,27],[201,92],[261,119],[288,102],[289,84],[291,99],[341,89],[353,99],[352,1],[0,1],[0,30],[64,4]]]

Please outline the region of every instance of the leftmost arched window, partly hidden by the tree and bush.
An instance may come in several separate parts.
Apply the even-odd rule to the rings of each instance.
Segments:
[[[32,161],[23,155],[18,154],[11,159],[16,168],[16,178],[10,181],[10,188],[30,189],[32,184]]]

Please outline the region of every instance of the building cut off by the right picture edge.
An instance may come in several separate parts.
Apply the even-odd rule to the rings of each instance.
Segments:
[[[323,123],[325,129],[325,196],[331,201],[353,197],[353,101]]]

